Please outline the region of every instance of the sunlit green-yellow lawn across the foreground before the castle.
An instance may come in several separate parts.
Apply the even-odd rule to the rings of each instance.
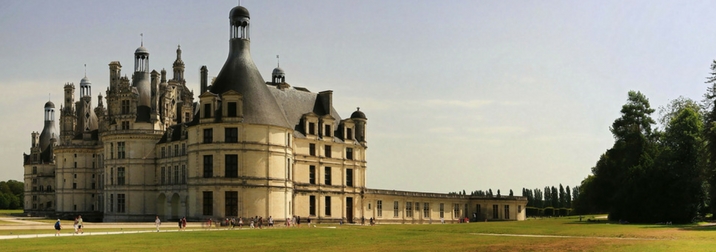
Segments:
[[[576,218],[445,225],[319,227],[323,228],[64,235],[31,240],[2,240],[0,251],[708,251],[716,247],[716,226],[619,225],[578,222]],[[47,230],[25,231],[54,233],[51,226]],[[99,231],[85,230],[86,233]],[[1,233],[4,235],[6,230]]]

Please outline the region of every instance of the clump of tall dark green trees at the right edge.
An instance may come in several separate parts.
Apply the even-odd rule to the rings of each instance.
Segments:
[[[579,213],[610,220],[691,222],[716,213],[716,60],[703,100],[679,97],[659,110],[630,91],[603,153],[580,187]]]

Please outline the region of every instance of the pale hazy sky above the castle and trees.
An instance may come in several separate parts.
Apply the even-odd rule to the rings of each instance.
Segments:
[[[237,4],[0,0],[0,181],[22,180],[45,102],[59,110],[68,82],[78,97],[86,71],[96,106],[109,62],[131,75],[142,39],[157,71],[171,72],[181,45],[198,94],[199,68],[216,76],[226,60]],[[286,82],[333,90],[343,118],[366,114],[375,189],[520,195],[579,185],[612,146],[629,90],[653,108],[701,100],[716,58],[713,1],[241,4],[265,80],[280,55]]]

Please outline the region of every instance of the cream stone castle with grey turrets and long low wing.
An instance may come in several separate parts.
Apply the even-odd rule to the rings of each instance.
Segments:
[[[55,127],[47,102],[41,133],[23,155],[24,211],[94,221],[310,217],[318,222],[430,223],[524,220],[524,197],[478,197],[366,188],[360,109],[342,118],[333,92],[292,87],[281,68],[264,81],[250,54],[250,17],[229,14],[229,53],[216,78],[200,69],[198,100],[184,79],[134,52],[131,78],[109,63],[106,97],[93,107],[85,76],[64,85]]]

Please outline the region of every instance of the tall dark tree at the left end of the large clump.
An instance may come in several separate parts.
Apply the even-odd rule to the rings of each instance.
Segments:
[[[641,92],[629,91],[627,103],[622,106],[621,117],[614,120],[610,131],[614,145],[604,153],[592,168],[594,177],[582,181],[580,194],[589,195],[581,202],[582,210],[607,210],[612,220],[636,221],[643,218],[643,200],[649,196],[648,174],[658,154],[651,118],[654,109]]]

